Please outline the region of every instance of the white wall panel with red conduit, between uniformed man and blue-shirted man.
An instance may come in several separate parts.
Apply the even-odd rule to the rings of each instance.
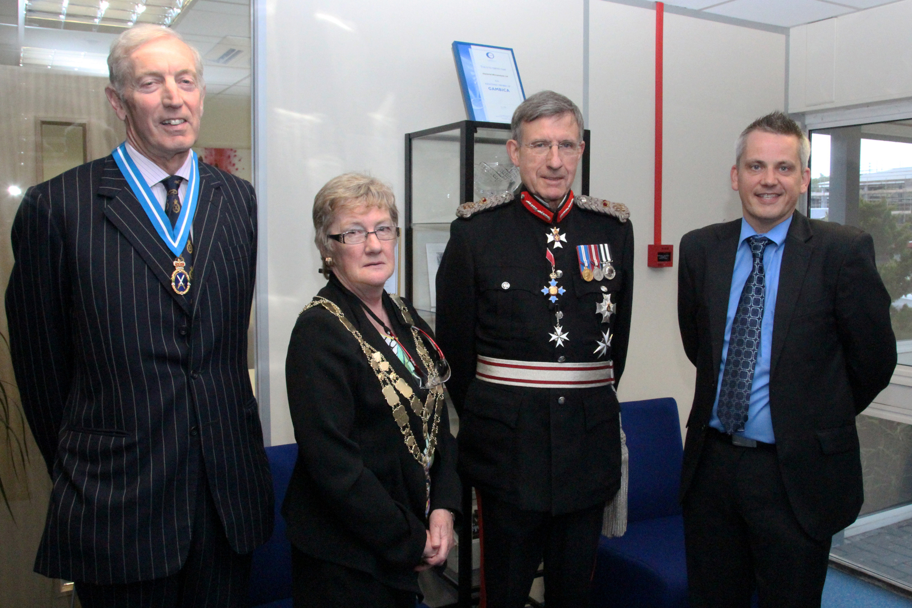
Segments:
[[[633,324],[621,400],[675,397],[682,424],[694,367],[678,330],[678,245],[685,233],[741,217],[729,170],[751,120],[782,109],[785,36],[665,15],[662,241],[673,268],[648,268],[653,239],[655,13],[590,5],[592,179],[595,196],[630,208],[637,238]]]

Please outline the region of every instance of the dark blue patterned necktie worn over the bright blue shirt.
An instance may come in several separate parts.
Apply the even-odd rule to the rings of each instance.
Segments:
[[[766,272],[763,270],[763,250],[770,243],[765,236],[748,239],[753,254],[753,268],[741,290],[741,300],[731,322],[729,352],[722,372],[719,407],[716,410],[724,432],[731,435],[744,430],[748,407],[751,405],[753,368],[760,350],[760,330],[763,323],[763,304],[766,301]]]

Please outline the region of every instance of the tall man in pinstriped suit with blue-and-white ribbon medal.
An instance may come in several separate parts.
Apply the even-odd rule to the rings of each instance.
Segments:
[[[195,49],[137,26],[106,90],[127,141],[31,188],[6,314],[53,480],[36,572],[83,606],[235,606],[273,527],[247,373],[256,201],[198,162]]]

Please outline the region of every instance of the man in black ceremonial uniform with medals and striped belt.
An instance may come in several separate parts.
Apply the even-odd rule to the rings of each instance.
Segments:
[[[620,485],[614,386],[633,296],[627,208],[571,191],[583,117],[543,91],[513,114],[522,185],[462,205],[437,273],[437,335],[476,489],[482,606],[524,606],[544,558],[549,608],[586,606]]]

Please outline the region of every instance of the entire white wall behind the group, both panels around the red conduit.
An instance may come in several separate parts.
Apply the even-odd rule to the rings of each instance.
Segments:
[[[268,208],[271,442],[281,444],[294,440],[285,395],[288,336],[324,284],[310,218],[316,191],[342,171],[370,170],[392,182],[401,200],[403,135],[465,118],[453,40],[512,46],[527,94],[553,88],[582,102],[584,15],[581,0],[560,10],[543,0],[266,6],[268,170],[259,190]],[[509,26],[492,15],[511,15]],[[694,370],[680,346],[677,258],[671,269],[646,265],[655,13],[594,0],[590,19],[591,191],[626,203],[637,233],[633,334],[621,397],[675,397],[684,420]],[[663,241],[677,251],[685,232],[740,217],[728,181],[733,141],[752,119],[783,106],[785,36],[680,15],[666,15],[665,27]]]

